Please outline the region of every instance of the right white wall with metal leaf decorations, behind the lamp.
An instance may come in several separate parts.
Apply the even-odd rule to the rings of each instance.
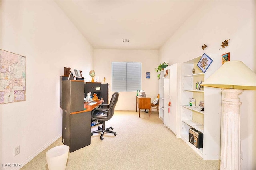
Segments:
[[[256,2],[205,1],[160,49],[160,62],[185,62],[205,53],[230,52],[256,72]],[[228,47],[221,42],[229,40]],[[203,44],[207,48],[202,50]],[[256,169],[256,92],[240,94],[242,170]]]

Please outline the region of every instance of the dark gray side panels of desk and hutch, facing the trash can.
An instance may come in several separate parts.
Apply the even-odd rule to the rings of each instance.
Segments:
[[[84,81],[61,76],[62,143],[73,152],[91,144],[91,112],[84,110]]]

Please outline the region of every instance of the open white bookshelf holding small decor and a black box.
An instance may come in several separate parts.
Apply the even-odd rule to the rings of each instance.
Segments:
[[[204,54],[203,56],[208,57],[209,64],[204,72],[198,66],[202,56],[182,63],[180,138],[204,160],[218,160],[220,159],[221,90],[196,86],[196,84],[203,82],[221,66],[221,55]],[[212,60],[211,63],[209,58]],[[193,68],[195,74],[192,74]],[[191,98],[195,99],[195,106],[189,106]],[[200,102],[204,103],[203,111],[202,107],[199,107]],[[202,133],[202,148],[197,148],[190,142],[190,129]]]

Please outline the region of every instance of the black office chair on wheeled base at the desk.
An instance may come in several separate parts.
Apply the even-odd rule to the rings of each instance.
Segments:
[[[102,128],[98,126],[98,130],[91,132],[91,136],[94,133],[100,133],[100,132],[101,132],[100,140],[103,140],[103,134],[105,132],[113,133],[116,136],[116,132],[111,131],[113,130],[112,127],[105,128],[105,121],[110,120],[114,115],[115,106],[116,106],[118,97],[119,97],[119,92],[115,92],[112,95],[112,98],[109,104],[102,104],[99,108],[92,111],[92,120],[102,121],[103,124],[102,124]],[[104,108],[104,107],[107,107],[107,108]]]

